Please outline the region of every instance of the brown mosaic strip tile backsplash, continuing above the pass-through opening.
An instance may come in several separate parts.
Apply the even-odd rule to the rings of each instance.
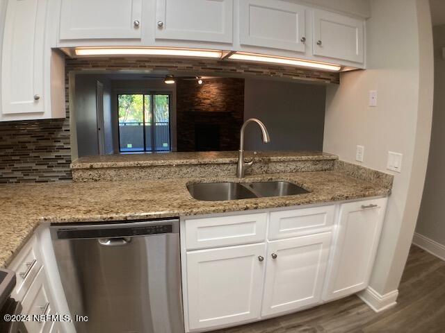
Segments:
[[[0,183],[71,180],[68,74],[70,71],[170,71],[191,75],[275,76],[339,84],[339,73],[278,65],[169,58],[66,59],[66,119],[0,123]]]

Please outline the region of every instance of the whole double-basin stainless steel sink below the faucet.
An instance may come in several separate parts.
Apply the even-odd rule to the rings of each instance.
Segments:
[[[187,185],[197,200],[223,201],[270,196],[293,196],[309,191],[291,182],[204,182]]]

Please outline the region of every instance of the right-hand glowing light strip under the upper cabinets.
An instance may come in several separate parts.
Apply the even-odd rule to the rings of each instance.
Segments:
[[[341,66],[328,64],[325,62],[312,62],[307,60],[301,60],[296,58],[282,58],[282,57],[274,57],[274,56],[265,56],[256,53],[246,53],[246,52],[236,52],[228,57],[231,60],[243,60],[243,61],[252,61],[252,62],[268,62],[270,64],[279,64],[279,65],[291,65],[298,67],[310,67],[316,69],[323,69],[327,71],[339,71]]]

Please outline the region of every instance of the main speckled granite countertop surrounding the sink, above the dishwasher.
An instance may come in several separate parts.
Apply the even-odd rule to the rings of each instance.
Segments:
[[[9,264],[33,230],[44,221],[63,223],[188,216],[326,203],[390,193],[388,187],[353,178],[341,171],[254,175],[244,179],[287,180],[311,192],[213,202],[193,199],[186,188],[191,182],[238,181],[230,177],[0,185],[0,267]]]

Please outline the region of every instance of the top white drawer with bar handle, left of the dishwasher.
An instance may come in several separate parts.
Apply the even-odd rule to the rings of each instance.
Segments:
[[[22,300],[29,290],[35,275],[42,268],[42,261],[38,255],[37,239],[33,236],[28,243],[20,250],[19,254],[9,268],[15,271],[17,282],[12,297],[15,300]]]

